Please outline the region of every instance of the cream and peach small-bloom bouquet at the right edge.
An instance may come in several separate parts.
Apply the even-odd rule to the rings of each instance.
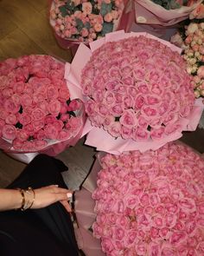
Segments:
[[[183,49],[187,72],[192,75],[195,98],[204,96],[204,4],[201,3],[170,38],[171,43]]]

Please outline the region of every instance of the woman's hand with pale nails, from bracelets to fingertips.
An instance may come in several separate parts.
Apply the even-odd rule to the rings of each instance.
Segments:
[[[35,189],[35,201],[31,209],[48,207],[49,205],[60,201],[67,212],[70,213],[72,212],[72,209],[69,206],[68,200],[72,198],[72,194],[72,191],[58,187],[57,185],[37,188]]]

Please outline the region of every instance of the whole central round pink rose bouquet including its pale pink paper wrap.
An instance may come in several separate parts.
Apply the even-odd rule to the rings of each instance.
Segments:
[[[70,89],[82,88],[85,96],[87,145],[112,154],[143,152],[197,127],[202,110],[194,106],[179,49],[146,33],[123,31],[90,46],[80,47],[65,75],[75,85]]]

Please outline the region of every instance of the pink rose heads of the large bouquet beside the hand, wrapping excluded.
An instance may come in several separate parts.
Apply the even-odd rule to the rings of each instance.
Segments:
[[[101,160],[93,235],[106,255],[204,255],[204,160],[171,142]]]

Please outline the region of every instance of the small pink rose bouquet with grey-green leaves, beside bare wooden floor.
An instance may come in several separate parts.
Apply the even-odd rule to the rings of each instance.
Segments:
[[[116,30],[123,0],[54,0],[50,23],[61,38],[89,43]]]

